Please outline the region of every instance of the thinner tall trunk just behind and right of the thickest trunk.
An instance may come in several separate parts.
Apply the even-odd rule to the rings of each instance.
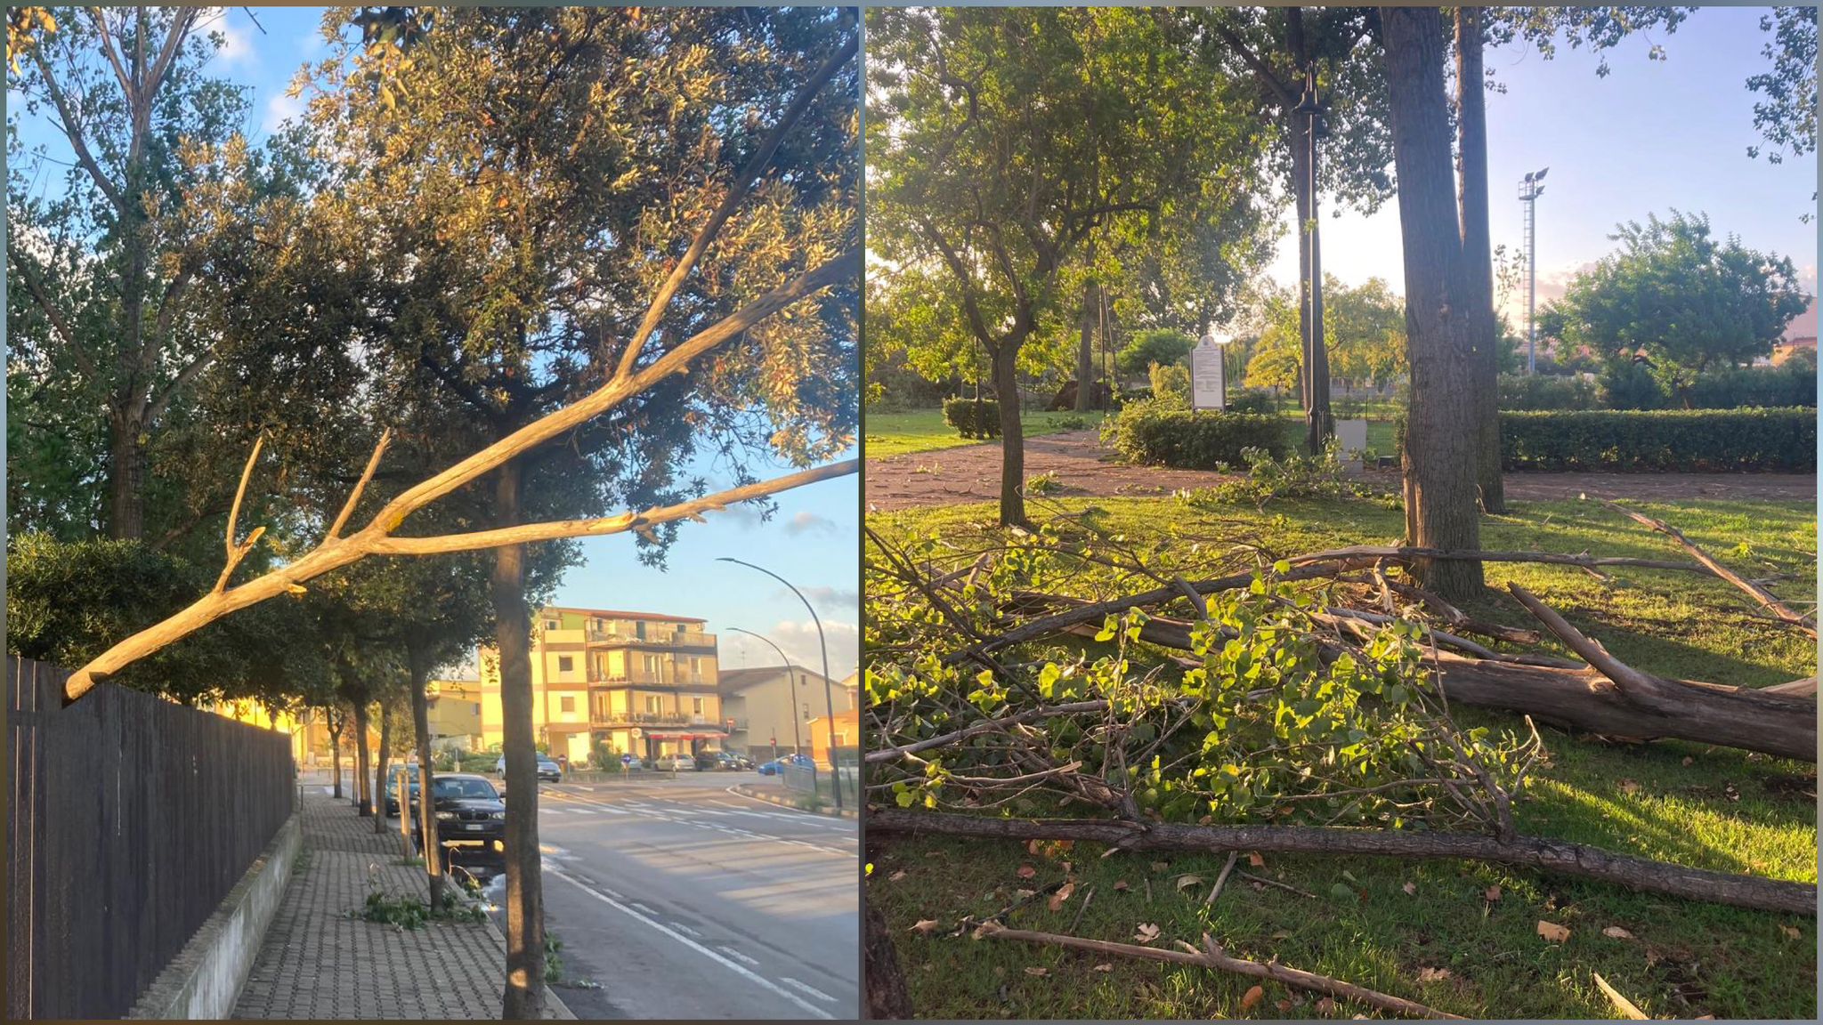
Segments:
[[[1500,326],[1493,316],[1493,243],[1488,237],[1488,89],[1482,82],[1482,11],[1457,7],[1457,126],[1462,173],[1462,268],[1473,316],[1475,485],[1480,507],[1506,512],[1500,481]]]

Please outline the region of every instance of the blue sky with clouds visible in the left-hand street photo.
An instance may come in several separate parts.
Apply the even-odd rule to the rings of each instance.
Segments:
[[[250,16],[230,7],[210,22],[226,42],[215,55],[215,75],[250,91],[242,131],[252,140],[264,139],[303,109],[303,100],[284,91],[306,60],[326,55],[321,20],[321,9],[255,7]],[[20,135],[27,148],[46,142],[53,159],[67,159],[67,144],[58,144],[55,129],[24,124]],[[38,181],[40,188],[60,188],[62,168],[46,168]],[[716,480],[713,472],[704,476]],[[778,514],[766,523],[751,507],[711,512],[707,523],[684,523],[669,571],[640,565],[631,534],[589,538],[583,542],[587,562],[565,576],[556,602],[706,618],[709,629],[720,633],[726,668],[778,662],[764,644],[727,631],[738,626],[771,637],[795,662],[820,671],[817,631],[804,606],[760,573],[715,562],[724,554],[744,558],[811,596],[829,640],[829,671],[842,678],[859,660],[860,487],[848,476],[786,492],[777,503]]]

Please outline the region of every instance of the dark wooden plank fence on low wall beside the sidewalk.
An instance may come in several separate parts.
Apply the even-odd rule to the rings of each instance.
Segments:
[[[7,1020],[120,1018],[292,813],[283,733],[7,658]]]

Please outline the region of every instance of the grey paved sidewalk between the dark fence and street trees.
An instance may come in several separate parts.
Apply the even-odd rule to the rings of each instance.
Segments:
[[[410,844],[304,782],[303,852],[235,1018],[500,1018],[507,947],[492,925],[396,928],[350,917],[372,885],[428,901]],[[549,990],[547,1018],[571,1018]]]

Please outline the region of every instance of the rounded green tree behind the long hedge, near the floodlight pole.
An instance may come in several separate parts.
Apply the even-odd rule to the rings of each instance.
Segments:
[[[1770,352],[1808,303],[1790,257],[1715,239],[1701,213],[1652,215],[1612,237],[1619,252],[1573,277],[1555,303],[1564,339],[1604,359],[1644,350],[1674,396],[1703,370]]]

